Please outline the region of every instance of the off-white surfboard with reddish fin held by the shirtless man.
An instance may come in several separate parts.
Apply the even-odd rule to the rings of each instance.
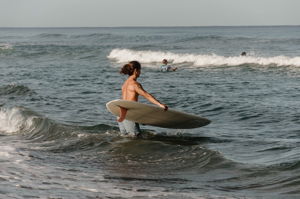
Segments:
[[[126,119],[168,129],[194,129],[211,123],[211,120],[199,115],[176,111],[171,108],[164,111],[164,108],[158,105],[122,99],[110,101],[106,107],[114,115],[120,117],[119,121]]]

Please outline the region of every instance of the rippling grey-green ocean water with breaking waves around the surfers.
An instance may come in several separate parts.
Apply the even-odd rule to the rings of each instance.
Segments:
[[[299,198],[299,32],[0,28],[0,198]],[[121,136],[105,105],[133,60],[146,91],[212,122]]]

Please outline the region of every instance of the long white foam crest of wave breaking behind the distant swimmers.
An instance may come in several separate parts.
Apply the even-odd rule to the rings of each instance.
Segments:
[[[116,60],[117,63],[126,63],[137,60],[140,63],[162,63],[163,59],[172,61],[172,64],[192,63],[194,66],[238,66],[241,64],[259,64],[267,66],[275,64],[277,66],[300,66],[300,57],[288,57],[284,55],[275,57],[261,57],[255,53],[247,53],[247,56],[224,57],[220,55],[196,55],[196,54],[176,54],[172,52],[158,51],[134,51],[129,49],[113,49],[107,58]],[[155,66],[157,67],[157,66]]]

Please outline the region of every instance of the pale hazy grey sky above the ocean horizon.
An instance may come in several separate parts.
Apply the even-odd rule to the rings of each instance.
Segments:
[[[0,27],[300,25],[300,0],[1,0]]]

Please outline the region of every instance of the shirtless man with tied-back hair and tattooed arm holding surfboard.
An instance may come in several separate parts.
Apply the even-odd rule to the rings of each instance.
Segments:
[[[141,74],[141,68],[141,64],[138,61],[131,61],[122,67],[120,74],[128,74],[129,76],[122,86],[122,99],[137,102],[141,95],[148,99],[149,102],[159,105],[164,108],[164,111],[167,111],[167,105],[155,99],[155,97],[145,91],[142,85],[137,82],[137,78],[140,77]],[[121,134],[128,135],[129,133],[134,133],[134,135],[137,136],[140,133],[140,125],[138,123],[128,120],[123,120],[118,123]]]

